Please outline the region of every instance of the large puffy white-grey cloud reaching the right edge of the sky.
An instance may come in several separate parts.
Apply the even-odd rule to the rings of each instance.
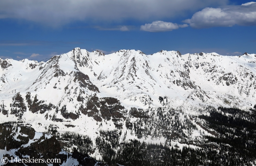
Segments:
[[[216,26],[256,25],[256,3],[226,6],[225,8],[204,8],[196,12],[191,19],[183,22],[193,28],[209,28]]]

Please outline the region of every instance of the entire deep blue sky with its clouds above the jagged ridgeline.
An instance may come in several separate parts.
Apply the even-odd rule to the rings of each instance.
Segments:
[[[2,0],[0,57],[40,61],[75,47],[105,54],[256,54],[256,3],[250,2]]]

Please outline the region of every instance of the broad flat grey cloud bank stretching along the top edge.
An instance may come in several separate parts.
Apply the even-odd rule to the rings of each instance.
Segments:
[[[18,18],[59,26],[73,21],[159,19],[184,15],[228,0],[1,0],[0,18]]]

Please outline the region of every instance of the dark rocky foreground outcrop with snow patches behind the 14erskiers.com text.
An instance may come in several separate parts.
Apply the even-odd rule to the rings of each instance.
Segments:
[[[36,139],[34,139],[35,134],[37,134]],[[38,137],[38,135],[40,136]],[[0,124],[0,149],[2,150],[0,155],[9,159],[6,165],[12,166],[25,166],[25,164],[28,166],[47,166],[49,163],[57,166],[69,163],[68,160],[77,161],[79,166],[104,165],[93,160],[88,154],[79,153],[76,148],[74,148],[73,154],[69,154],[61,149],[60,142],[54,136],[36,133],[30,126],[20,123]],[[4,151],[4,149],[6,150]],[[9,150],[12,150],[12,155],[9,154]],[[16,157],[23,159],[24,164],[10,163],[11,158],[14,160]],[[35,163],[35,159],[37,159],[37,163]],[[47,159],[54,159],[57,162],[47,162]]]

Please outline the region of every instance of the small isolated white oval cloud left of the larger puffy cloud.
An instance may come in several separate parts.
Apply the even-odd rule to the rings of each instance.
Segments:
[[[176,23],[171,22],[153,21],[151,24],[141,25],[140,30],[148,32],[165,32],[172,31],[174,29],[184,28],[187,26],[187,24],[178,25]]]

